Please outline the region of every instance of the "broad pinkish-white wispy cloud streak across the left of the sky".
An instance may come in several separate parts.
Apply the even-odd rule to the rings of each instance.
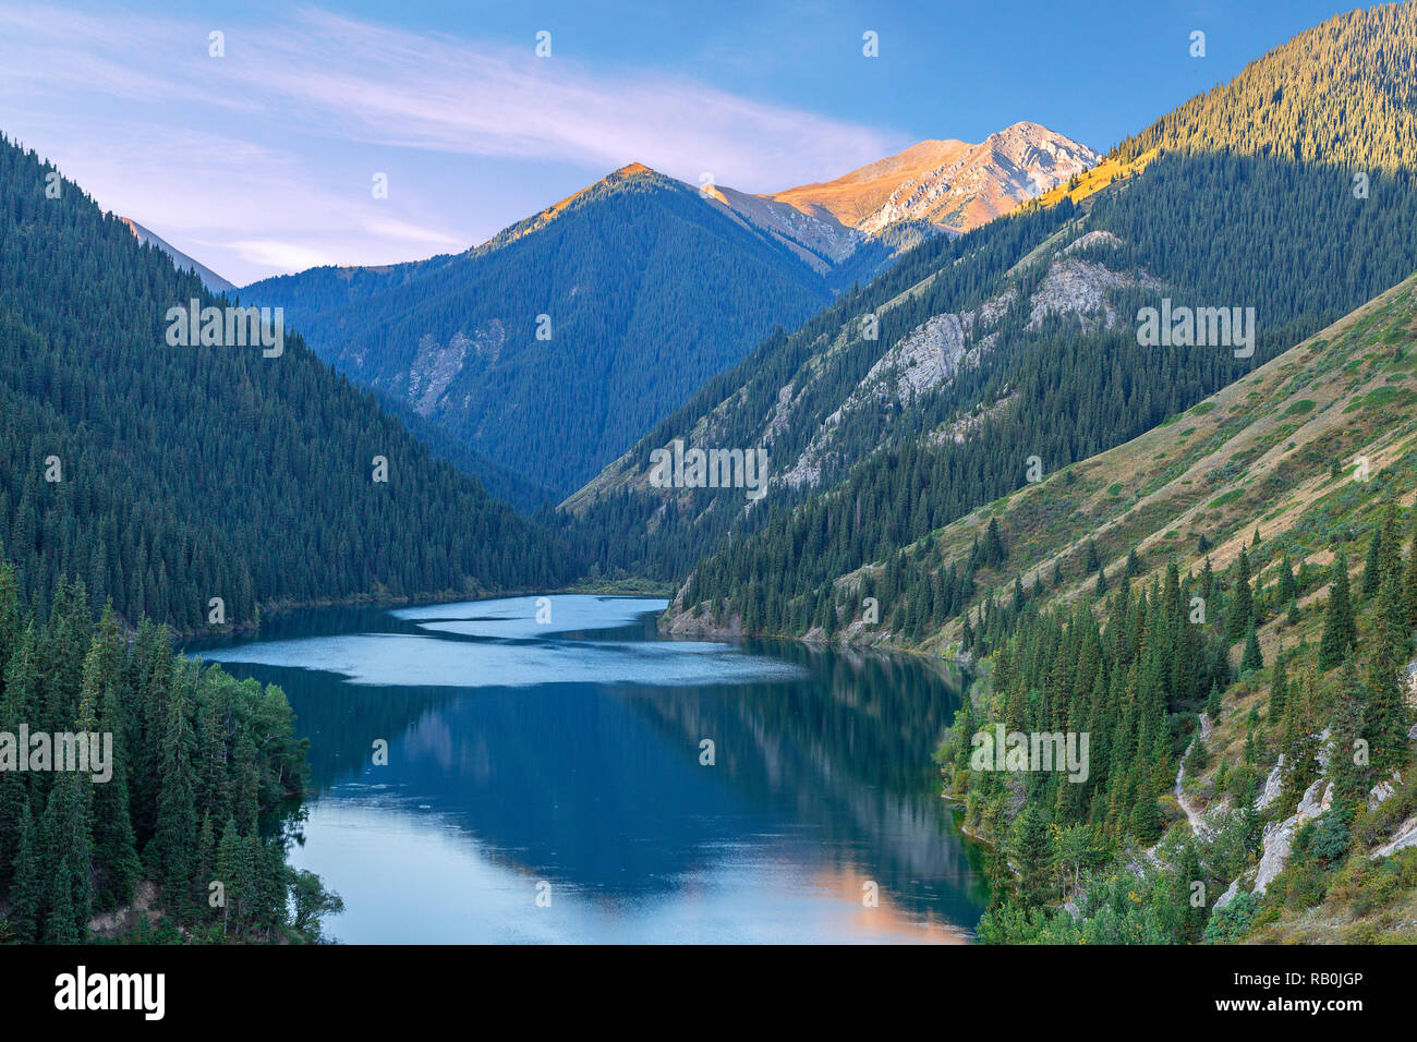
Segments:
[[[530,40],[512,48],[300,9],[227,26],[225,57],[213,58],[210,28],[0,6],[0,129],[179,248],[211,244],[200,259],[237,281],[472,245],[530,213],[507,213],[496,180],[517,163],[604,173],[638,160],[767,191],[904,143],[721,85],[594,68],[554,41],[537,58]],[[429,170],[458,155],[489,160],[476,167],[485,183],[441,197]],[[421,190],[371,200],[384,156],[401,164],[400,186]]]

